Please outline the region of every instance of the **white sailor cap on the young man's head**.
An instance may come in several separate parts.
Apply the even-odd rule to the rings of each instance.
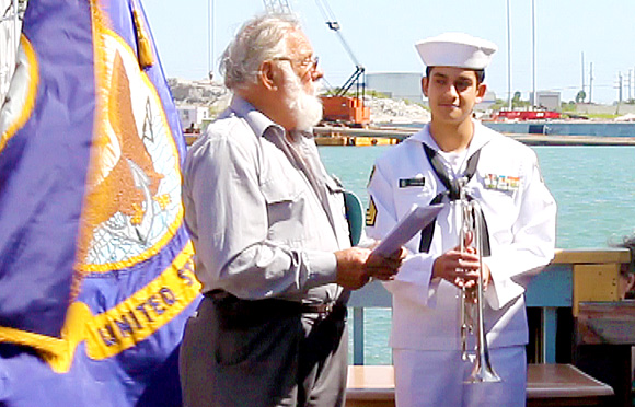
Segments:
[[[485,69],[498,47],[463,33],[446,33],[415,44],[428,67]]]

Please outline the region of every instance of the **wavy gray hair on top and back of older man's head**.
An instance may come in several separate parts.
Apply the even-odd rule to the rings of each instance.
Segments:
[[[257,83],[261,65],[285,56],[287,34],[300,30],[300,22],[290,14],[263,14],[245,22],[221,56],[224,85],[235,90]]]

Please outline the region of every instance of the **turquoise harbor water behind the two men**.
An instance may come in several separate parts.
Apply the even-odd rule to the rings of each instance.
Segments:
[[[366,206],[372,163],[390,148],[325,146],[320,153],[328,172]],[[558,205],[557,247],[602,248],[635,233],[635,147],[532,148]],[[391,363],[390,310],[366,310],[365,326],[366,363]]]

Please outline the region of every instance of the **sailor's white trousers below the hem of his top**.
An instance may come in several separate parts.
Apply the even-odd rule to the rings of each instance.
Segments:
[[[524,346],[489,349],[499,383],[464,383],[472,363],[460,351],[393,349],[397,407],[522,407],[527,393]]]

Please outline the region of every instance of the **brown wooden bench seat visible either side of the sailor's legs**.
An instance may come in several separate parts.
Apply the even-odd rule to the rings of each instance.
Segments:
[[[477,385],[477,384],[476,384]],[[527,406],[605,406],[613,389],[570,364],[530,364]],[[394,407],[392,365],[348,367],[347,407]]]

